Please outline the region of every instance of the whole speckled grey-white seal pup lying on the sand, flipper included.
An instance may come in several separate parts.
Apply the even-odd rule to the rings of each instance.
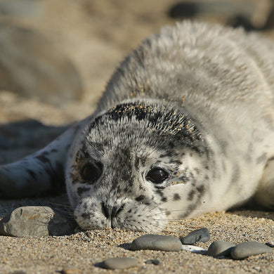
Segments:
[[[58,190],[84,230],[153,232],[237,207],[274,208],[274,46],[182,22],[143,41],[97,110],[0,169],[1,197]]]

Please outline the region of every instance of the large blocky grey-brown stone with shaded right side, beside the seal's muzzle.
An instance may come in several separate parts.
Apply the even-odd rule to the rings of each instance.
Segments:
[[[75,223],[68,215],[51,207],[18,207],[0,221],[0,235],[60,236],[73,233]]]

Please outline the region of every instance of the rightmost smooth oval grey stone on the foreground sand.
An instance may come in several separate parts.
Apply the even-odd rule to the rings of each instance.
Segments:
[[[242,242],[231,249],[231,256],[237,260],[264,253],[273,253],[273,249],[261,242]]]

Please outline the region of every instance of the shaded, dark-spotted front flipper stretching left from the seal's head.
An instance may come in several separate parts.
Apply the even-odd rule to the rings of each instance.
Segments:
[[[41,196],[65,190],[64,165],[75,126],[45,148],[0,166],[0,198]]]

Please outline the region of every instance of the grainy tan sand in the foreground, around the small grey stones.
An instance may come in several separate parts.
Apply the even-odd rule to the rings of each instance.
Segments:
[[[245,241],[273,240],[274,213],[234,211],[201,216],[193,220],[176,221],[162,234],[178,237],[194,229],[207,227],[211,240],[198,244],[207,248],[214,240],[234,244]],[[24,270],[25,273],[273,273],[274,255],[262,254],[248,259],[214,259],[190,252],[131,252],[129,242],[142,233],[122,230],[91,230],[62,237],[4,237],[0,236],[0,273]],[[128,256],[138,259],[138,266],[128,270],[104,270],[96,266],[104,259]],[[145,264],[159,259],[159,266]]]

